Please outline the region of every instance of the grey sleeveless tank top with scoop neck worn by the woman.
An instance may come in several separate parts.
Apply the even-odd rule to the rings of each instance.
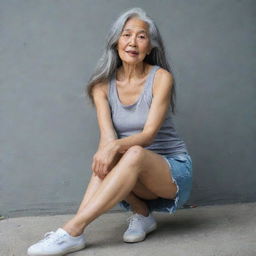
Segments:
[[[158,65],[154,65],[151,68],[140,97],[131,105],[124,105],[119,99],[116,87],[116,72],[111,77],[108,84],[108,101],[118,139],[142,132],[152,101],[154,76],[159,68],[161,67]],[[169,111],[154,141],[144,148],[164,156],[188,153],[184,141],[175,130],[171,113],[170,105]]]

